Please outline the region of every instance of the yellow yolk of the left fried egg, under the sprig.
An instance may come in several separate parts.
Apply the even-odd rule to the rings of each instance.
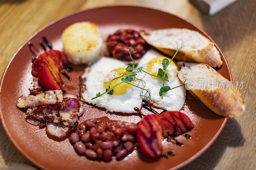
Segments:
[[[111,80],[113,80],[111,83],[110,83],[110,88],[114,87],[115,85],[117,85],[118,83],[121,82],[121,78],[125,78],[126,76],[122,76],[120,77],[122,74],[130,74],[131,72],[130,71],[127,71],[125,70],[125,68],[119,68],[119,69],[115,69],[115,70],[112,70],[111,72],[108,73],[107,77],[105,78],[105,80],[107,79],[107,81],[104,82],[104,87],[107,89],[108,86],[109,86],[109,83]],[[117,77],[120,77],[120,78],[117,78]],[[131,84],[133,84],[133,81],[132,82],[129,82]],[[120,95],[120,94],[125,94],[126,93],[126,89],[128,88],[132,88],[132,85],[129,85],[127,83],[122,83],[118,86],[116,86],[113,90],[114,90],[114,93],[113,94],[116,94],[116,95]]]

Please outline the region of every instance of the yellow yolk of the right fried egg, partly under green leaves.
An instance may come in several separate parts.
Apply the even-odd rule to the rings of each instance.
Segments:
[[[148,62],[147,70],[148,70],[148,72],[149,72],[150,74],[153,74],[153,75],[154,75],[154,76],[152,76],[152,77],[154,77],[154,78],[156,78],[156,79],[159,79],[159,80],[163,80],[162,78],[157,78],[157,77],[155,77],[155,76],[157,76],[157,74],[158,74],[158,69],[157,69],[157,71],[154,71],[154,72],[151,72],[151,71],[152,71],[152,68],[153,68],[154,66],[156,66],[156,67],[158,67],[158,68],[162,67],[162,62],[163,62],[163,60],[164,60],[165,58],[168,59],[169,61],[171,60],[171,59],[168,58],[168,57],[158,56],[158,57],[152,59],[150,62]],[[171,64],[171,65],[174,65],[175,67],[177,67],[176,64],[174,63],[174,61],[172,61],[170,64]],[[162,70],[163,70],[163,69],[162,69]],[[166,70],[167,70],[167,69],[166,69]],[[163,71],[164,71],[164,70],[163,70]],[[170,74],[168,74],[168,73],[166,73],[166,75],[167,75],[168,78],[172,77],[172,76],[171,76]]]

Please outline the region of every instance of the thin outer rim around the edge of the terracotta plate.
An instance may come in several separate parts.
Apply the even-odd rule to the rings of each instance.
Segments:
[[[6,65],[5,69],[4,69],[4,73],[2,75],[2,78],[1,78],[1,83],[0,83],[0,101],[1,101],[1,90],[2,90],[2,84],[3,84],[3,79],[4,79],[4,76],[5,76],[5,73],[7,71],[7,69],[9,68],[9,65],[11,64],[13,58],[17,55],[17,53],[20,51],[20,49],[27,44],[27,42],[33,38],[37,33],[41,32],[42,30],[44,30],[46,27],[64,19],[64,18],[67,18],[67,17],[70,17],[72,15],[76,15],[78,13],[82,13],[84,11],[90,11],[90,10],[94,10],[94,9],[100,9],[100,8],[108,8],[108,7],[139,7],[139,8],[144,8],[144,9],[148,9],[148,10],[155,10],[155,11],[161,11],[161,12],[164,12],[166,14],[169,14],[169,15],[172,15],[172,16],[175,16],[177,18],[180,18],[186,22],[188,22],[189,24],[191,24],[192,26],[195,26],[197,29],[199,29],[201,32],[203,32],[207,38],[209,38],[213,43],[214,45],[216,46],[216,48],[218,49],[218,51],[220,52],[220,54],[223,56],[223,59],[225,61],[225,63],[227,63],[227,66],[228,66],[228,72],[229,72],[229,76],[230,76],[230,79],[232,81],[232,75],[231,75],[231,71],[230,71],[230,68],[229,68],[229,65],[228,65],[228,62],[224,56],[224,54],[222,53],[222,51],[220,50],[219,46],[216,44],[216,42],[212,39],[212,37],[210,35],[208,35],[202,28],[200,28],[199,26],[197,26],[196,24],[194,23],[191,23],[190,21],[188,21],[187,19],[184,19],[184,18],[181,18],[180,16],[178,15],[175,15],[175,14],[172,14],[168,11],[163,11],[161,9],[157,9],[157,8],[154,8],[154,7],[149,7],[149,6],[142,6],[142,5],[103,5],[103,6],[97,6],[97,7],[92,7],[92,8],[87,8],[87,9],[83,9],[83,10],[77,10],[75,12],[71,12],[69,14],[66,14],[66,15],[63,15],[61,17],[58,17],[56,19],[53,19],[52,21],[48,22],[47,24],[45,24],[44,26],[40,27],[39,29],[37,29],[34,33],[32,33],[27,39],[26,41],[24,41],[20,47],[17,49],[17,51],[12,55],[10,61],[8,62],[8,64]],[[33,158],[31,158],[24,150],[22,150],[19,145],[13,140],[13,137],[10,135],[9,133],[9,130],[7,129],[7,126],[4,122],[4,118],[3,118],[3,115],[2,115],[2,112],[1,112],[1,102],[0,102],[0,119],[1,119],[1,123],[2,123],[2,127],[4,128],[4,131],[5,131],[5,134],[6,136],[9,138],[9,140],[11,141],[11,143],[14,145],[14,147],[26,158],[28,159],[32,164],[34,164],[35,166],[41,168],[41,169],[47,169],[45,166],[42,166],[41,164],[37,163],[37,161],[35,161]],[[179,169],[183,166],[186,166],[188,165],[190,162],[192,162],[193,160],[195,160],[196,158],[198,158],[200,155],[202,155],[213,143],[214,141],[219,137],[222,129],[225,127],[226,123],[227,123],[227,120],[228,118],[226,117],[223,121],[223,123],[221,124],[220,126],[220,129],[217,131],[217,133],[212,137],[212,139],[200,150],[198,151],[195,155],[193,155],[192,157],[190,157],[189,159],[187,159],[186,161],[180,163],[179,165],[177,166],[174,166],[171,168],[171,170],[174,170],[174,169]]]

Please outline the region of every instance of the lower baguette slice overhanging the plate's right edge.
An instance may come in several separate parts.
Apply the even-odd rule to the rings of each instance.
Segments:
[[[177,65],[180,67],[178,77],[182,82],[186,75],[189,92],[215,114],[234,117],[244,112],[245,104],[241,94],[212,67],[185,62],[177,62]]]

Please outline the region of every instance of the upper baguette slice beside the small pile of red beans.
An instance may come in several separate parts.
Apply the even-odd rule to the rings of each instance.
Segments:
[[[177,44],[182,39],[184,46],[175,56],[175,59],[188,62],[204,63],[211,67],[220,67],[222,61],[214,43],[202,34],[186,28],[168,28],[140,33],[148,44],[173,56],[176,53]]]

